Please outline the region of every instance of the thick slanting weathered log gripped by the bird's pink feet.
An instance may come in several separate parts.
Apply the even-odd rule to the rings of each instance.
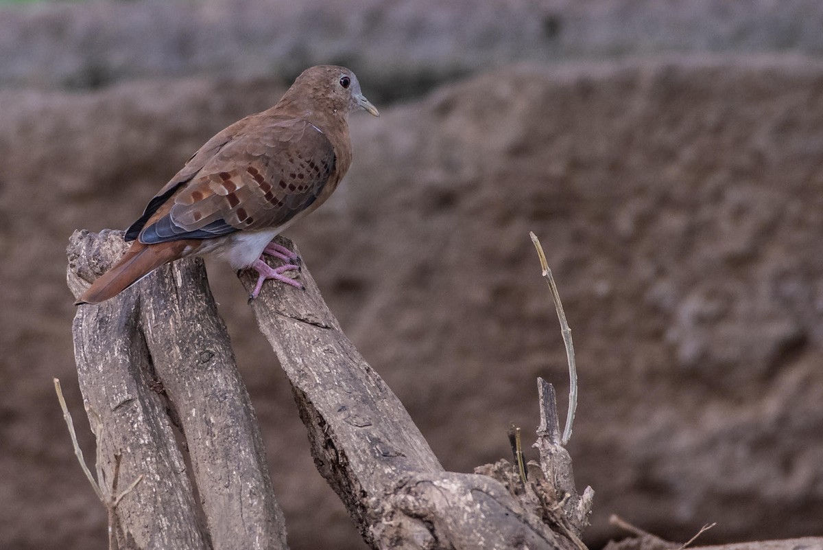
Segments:
[[[250,274],[241,279],[253,285]],[[503,482],[444,472],[402,403],[342,333],[307,269],[300,280],[305,291],[264,286],[252,309],[291,381],[320,473],[372,548],[578,546]]]

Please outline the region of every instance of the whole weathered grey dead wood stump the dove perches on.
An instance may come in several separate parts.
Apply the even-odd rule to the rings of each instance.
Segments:
[[[72,292],[123,249],[119,231],[72,235]],[[240,278],[253,285],[250,274]],[[314,462],[371,548],[581,548],[591,492],[574,492],[570,460],[529,468],[529,481],[505,461],[478,469],[488,475],[444,471],[305,266],[300,280],[304,291],[267,282],[252,310],[291,382]],[[257,421],[202,262],[180,260],[110,301],[80,306],[73,331],[102,456],[123,454],[126,482],[145,475],[117,510],[121,546],[286,548]],[[114,459],[102,464],[105,476],[113,467]]]

